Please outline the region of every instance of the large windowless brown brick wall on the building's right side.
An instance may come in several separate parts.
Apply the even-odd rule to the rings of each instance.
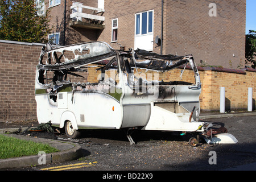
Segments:
[[[197,64],[234,69],[245,60],[245,0],[165,3],[165,53],[193,54]],[[210,3],[216,3],[216,17],[209,16]]]

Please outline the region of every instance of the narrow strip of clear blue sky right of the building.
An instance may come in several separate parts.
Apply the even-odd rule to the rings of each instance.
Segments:
[[[246,34],[256,31],[256,0],[246,0]]]

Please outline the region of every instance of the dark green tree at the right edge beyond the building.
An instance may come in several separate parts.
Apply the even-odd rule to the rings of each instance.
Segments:
[[[256,31],[250,30],[249,34],[246,35],[245,45],[245,62],[251,65],[253,68],[256,66]]]

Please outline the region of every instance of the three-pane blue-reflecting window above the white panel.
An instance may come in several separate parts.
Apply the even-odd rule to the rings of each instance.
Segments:
[[[153,10],[135,14],[135,34],[145,35],[153,32]]]

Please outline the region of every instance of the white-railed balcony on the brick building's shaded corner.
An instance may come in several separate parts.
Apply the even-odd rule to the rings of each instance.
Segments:
[[[105,16],[103,16],[105,12],[104,9],[80,4],[71,6],[71,9],[72,14],[70,15],[71,21],[69,22],[69,26],[98,30],[103,30],[105,28]]]

